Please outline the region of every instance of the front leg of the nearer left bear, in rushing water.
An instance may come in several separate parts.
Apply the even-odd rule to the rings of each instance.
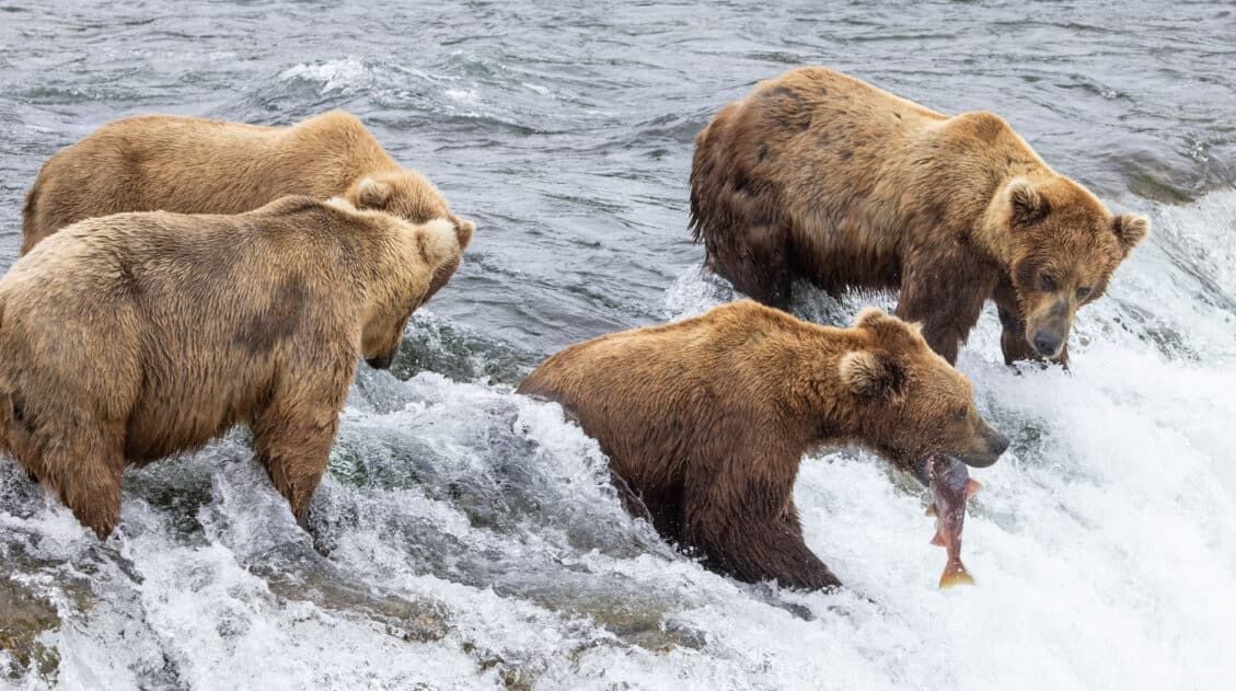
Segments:
[[[256,457],[302,528],[307,527],[309,501],[326,471],[337,428],[337,408],[305,409],[278,399],[253,424]]]

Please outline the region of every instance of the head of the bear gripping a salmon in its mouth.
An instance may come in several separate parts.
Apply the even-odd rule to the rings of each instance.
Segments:
[[[902,465],[936,454],[974,467],[996,462],[1009,438],[983,419],[970,382],[932,351],[917,325],[869,308],[854,326],[870,347],[845,352],[837,368],[865,444]]]

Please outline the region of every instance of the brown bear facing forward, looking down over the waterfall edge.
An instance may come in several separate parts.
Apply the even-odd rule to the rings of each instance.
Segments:
[[[822,67],[761,82],[696,136],[691,226],[707,266],[779,308],[795,278],[900,288],[949,362],[988,298],[1005,360],[1065,362],[1077,309],[1149,221],[1114,216],[1000,116],[941,115]]]

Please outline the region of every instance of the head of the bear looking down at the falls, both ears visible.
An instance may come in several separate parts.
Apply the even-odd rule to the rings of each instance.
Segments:
[[[1026,341],[1039,356],[1056,358],[1078,308],[1103,295],[1112,272],[1148,234],[1149,220],[1114,216],[1065,178],[1037,184],[1016,178],[1004,194],[1018,247],[1010,278]]]

